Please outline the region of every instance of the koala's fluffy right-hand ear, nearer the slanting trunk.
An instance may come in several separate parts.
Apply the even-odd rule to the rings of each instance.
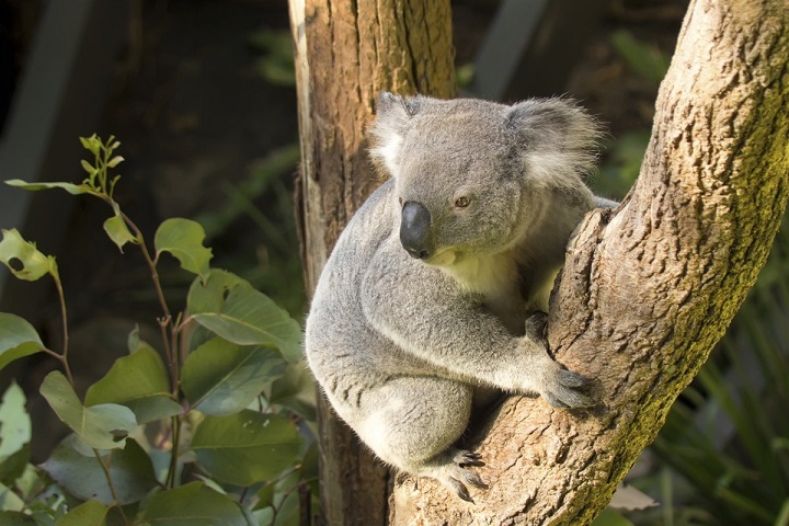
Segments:
[[[601,132],[575,102],[531,99],[513,105],[507,117],[533,170],[585,174],[594,169]]]

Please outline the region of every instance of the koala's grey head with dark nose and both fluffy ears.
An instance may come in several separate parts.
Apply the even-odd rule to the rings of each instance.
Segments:
[[[382,93],[376,113],[370,157],[395,178],[401,242],[434,265],[521,242],[595,160],[594,122],[568,100]]]

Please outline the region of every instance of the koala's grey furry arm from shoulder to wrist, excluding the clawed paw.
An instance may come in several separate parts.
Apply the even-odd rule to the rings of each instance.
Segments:
[[[402,351],[431,364],[437,376],[508,391],[538,390],[535,364],[550,359],[541,342],[531,335],[513,336],[501,320],[444,283],[443,276],[424,278],[379,275],[362,297],[369,323]],[[410,279],[423,283],[419,297]]]

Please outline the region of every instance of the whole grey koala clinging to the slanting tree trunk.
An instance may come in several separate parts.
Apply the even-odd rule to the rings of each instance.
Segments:
[[[503,105],[382,93],[369,153],[390,175],[320,276],[306,356],[342,418],[385,462],[470,501],[485,488],[456,446],[476,399],[595,403],[541,335],[571,233],[597,204],[583,175],[594,121],[563,99]]]

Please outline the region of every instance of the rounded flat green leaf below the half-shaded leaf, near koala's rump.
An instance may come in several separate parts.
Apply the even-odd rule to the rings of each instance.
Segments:
[[[276,477],[291,466],[299,444],[293,422],[250,410],[206,416],[192,437],[192,450],[206,471],[242,487]]]

